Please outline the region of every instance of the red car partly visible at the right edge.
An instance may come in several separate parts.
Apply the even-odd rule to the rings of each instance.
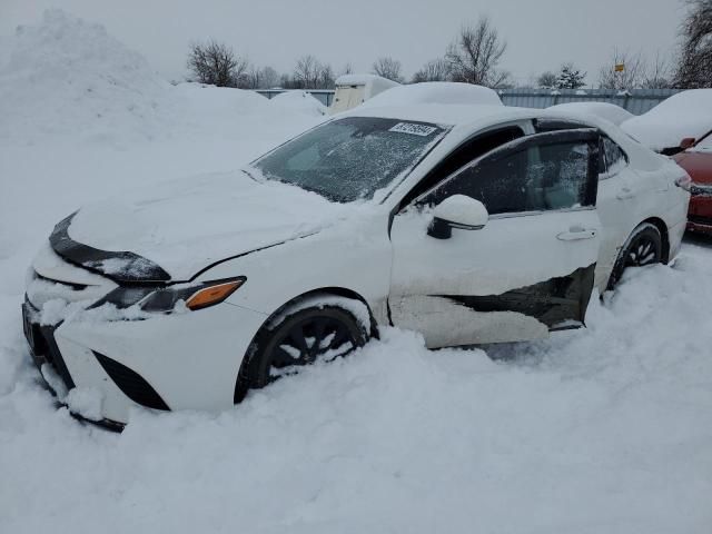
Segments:
[[[685,146],[673,158],[692,178],[688,229],[712,235],[712,131],[696,142],[684,139]]]

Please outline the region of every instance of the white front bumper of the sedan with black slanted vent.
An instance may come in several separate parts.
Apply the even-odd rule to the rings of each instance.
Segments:
[[[36,364],[51,365],[68,390],[98,393],[98,422],[115,428],[128,423],[136,407],[215,411],[233,406],[243,356],[266,319],[224,303],[145,320],[85,316],[40,325],[38,310],[29,301],[22,308]]]

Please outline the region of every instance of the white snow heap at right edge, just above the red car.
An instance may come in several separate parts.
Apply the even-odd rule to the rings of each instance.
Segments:
[[[680,146],[685,137],[700,139],[712,130],[712,89],[673,95],[621,128],[657,151]]]

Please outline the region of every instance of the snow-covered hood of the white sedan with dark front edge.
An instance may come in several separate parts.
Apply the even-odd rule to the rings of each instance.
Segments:
[[[349,208],[236,171],[82,207],[56,226],[50,243],[67,260],[116,281],[188,280],[222,259],[318,233]]]

